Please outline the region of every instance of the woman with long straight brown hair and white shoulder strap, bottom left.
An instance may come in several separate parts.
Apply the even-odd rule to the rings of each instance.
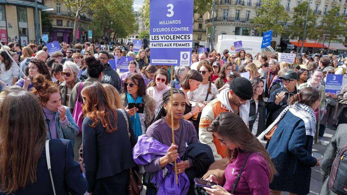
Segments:
[[[0,135],[0,194],[53,195],[45,150],[46,123],[34,94],[16,91],[5,97],[0,104]],[[74,161],[71,141],[51,139],[48,144],[56,194],[84,194],[88,184]]]

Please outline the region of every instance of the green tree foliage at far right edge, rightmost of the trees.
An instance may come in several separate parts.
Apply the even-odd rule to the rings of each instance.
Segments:
[[[322,19],[322,26],[321,26],[321,33],[322,34],[327,34],[326,40],[329,41],[329,46],[330,42],[333,40],[338,40],[339,37],[345,37],[347,36],[346,32],[346,23],[347,20],[343,18],[342,15],[339,15],[340,7],[336,6],[329,10],[327,14],[323,17]]]

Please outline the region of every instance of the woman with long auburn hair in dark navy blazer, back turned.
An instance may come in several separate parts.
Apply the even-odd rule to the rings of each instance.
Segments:
[[[135,167],[133,147],[136,138],[129,118],[112,107],[108,94],[99,82],[85,86],[81,92],[83,165],[88,194],[128,194],[129,170]],[[96,106],[95,106],[96,105]],[[124,111],[125,112],[125,111]],[[128,130],[129,133],[128,134]]]

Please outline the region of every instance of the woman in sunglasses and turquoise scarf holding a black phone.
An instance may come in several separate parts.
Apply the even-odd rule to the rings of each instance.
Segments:
[[[141,75],[132,73],[125,78],[120,99],[130,116],[136,138],[145,134],[154,118],[155,100],[146,94],[146,85]],[[143,113],[138,113],[139,109],[135,105],[129,107],[129,103],[142,105]]]

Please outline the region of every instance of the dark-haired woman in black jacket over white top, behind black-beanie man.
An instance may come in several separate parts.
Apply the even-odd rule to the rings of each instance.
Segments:
[[[252,134],[258,136],[265,130],[265,109],[266,103],[264,97],[264,81],[261,78],[251,80],[253,86],[253,97],[249,100],[249,130]]]

